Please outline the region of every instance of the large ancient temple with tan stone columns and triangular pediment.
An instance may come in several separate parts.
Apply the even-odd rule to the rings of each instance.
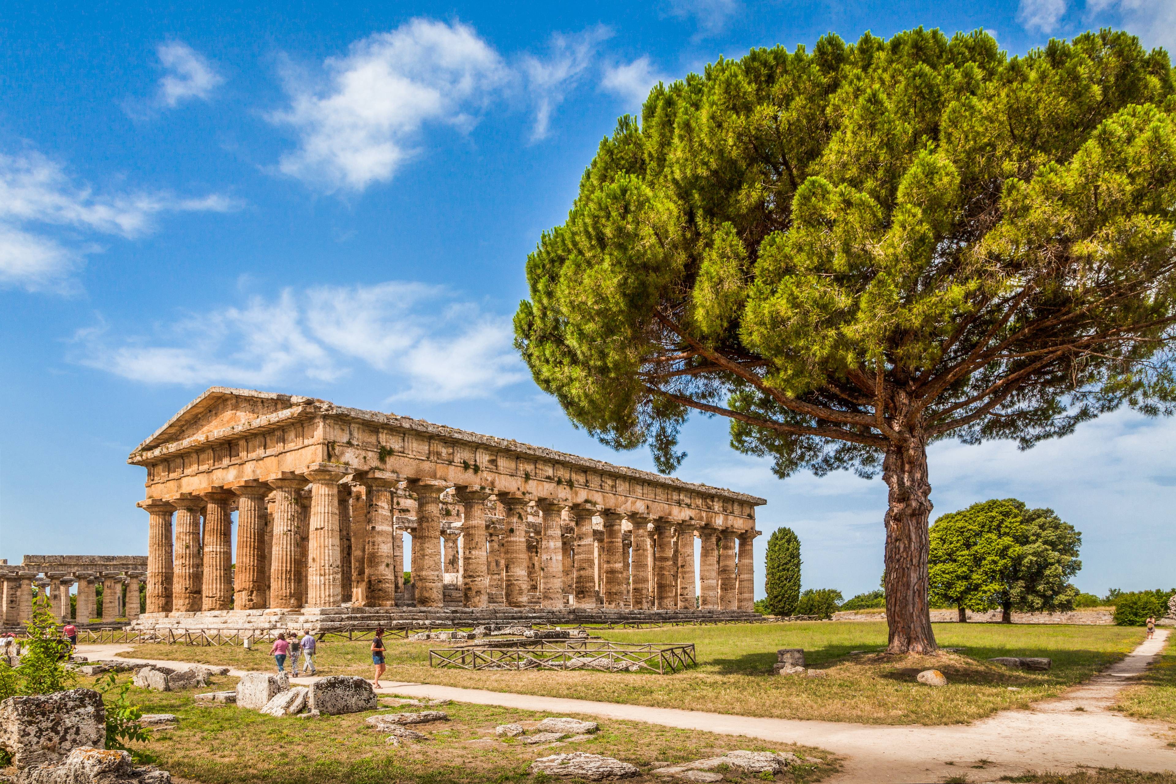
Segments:
[[[751,611],[755,508],[764,500],[741,492],[222,387],[128,462],[147,469],[140,625],[309,609]]]

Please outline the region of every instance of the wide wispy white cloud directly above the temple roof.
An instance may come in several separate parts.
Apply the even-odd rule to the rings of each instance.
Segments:
[[[133,381],[185,386],[330,383],[367,366],[389,376],[389,400],[445,402],[524,378],[510,342],[508,319],[442,287],[393,281],[286,289],[179,319],[152,339],[112,341],[100,324],[75,335],[73,359]]]

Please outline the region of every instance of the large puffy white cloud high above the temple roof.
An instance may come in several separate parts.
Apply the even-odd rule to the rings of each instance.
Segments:
[[[280,169],[327,192],[387,182],[422,129],[468,129],[508,79],[502,58],[469,26],[413,19],[325,63],[322,85],[287,79],[290,106],[272,120],[299,136]]]

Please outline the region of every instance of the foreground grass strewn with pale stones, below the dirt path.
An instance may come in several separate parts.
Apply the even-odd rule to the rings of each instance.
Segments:
[[[123,676],[123,679],[129,676]],[[81,678],[88,686],[93,678]],[[236,678],[214,678],[209,690],[233,689]],[[528,765],[553,753],[586,751],[615,757],[642,769],[643,776],[629,782],[655,780],[654,763],[676,763],[722,755],[735,749],[751,751],[793,751],[817,762],[794,766],[771,780],[817,782],[837,770],[836,758],[820,749],[751,738],[734,738],[635,722],[600,721],[600,731],[589,741],[529,746],[524,738],[497,739],[494,728],[512,722],[523,726],[549,716],[506,708],[452,703],[441,708],[448,722],[414,724],[428,735],[427,742],[410,742],[395,748],[385,742],[387,732],[365,723],[376,712],[367,711],[318,718],[273,718],[234,705],[196,704],[198,691],[156,692],[131,690],[132,702],[143,712],[175,713],[174,729],[156,730],[152,741],[135,743],[133,750],[146,762],[160,765],[181,782],[201,784],[440,784],[481,782],[548,782],[532,776]],[[381,703],[389,703],[381,698]],[[490,738],[479,741],[479,738]],[[728,780],[744,777],[728,773]],[[753,780],[746,777],[747,780]],[[659,779],[661,780],[661,779]],[[759,779],[755,779],[759,780]]]

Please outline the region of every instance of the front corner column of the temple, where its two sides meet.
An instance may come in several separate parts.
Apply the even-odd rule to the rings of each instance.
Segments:
[[[306,607],[339,607],[343,602],[339,481],[346,471],[346,467],[336,463],[312,463],[301,471],[310,483]]]

